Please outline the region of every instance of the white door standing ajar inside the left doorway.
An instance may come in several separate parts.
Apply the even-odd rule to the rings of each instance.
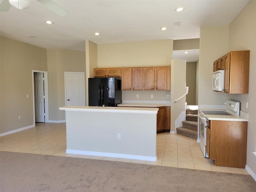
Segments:
[[[44,74],[34,73],[35,122],[45,122]]]

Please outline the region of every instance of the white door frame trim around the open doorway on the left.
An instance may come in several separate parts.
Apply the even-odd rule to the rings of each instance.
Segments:
[[[44,74],[44,111],[45,111],[45,122],[49,122],[49,98],[48,98],[48,72],[40,70],[32,70],[32,88],[33,88],[33,116],[34,126],[36,126],[35,116],[35,89],[34,89],[34,73]]]

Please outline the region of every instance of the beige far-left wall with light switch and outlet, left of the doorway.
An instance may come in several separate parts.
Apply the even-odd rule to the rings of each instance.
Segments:
[[[32,70],[47,71],[47,53],[44,48],[4,37],[0,42],[0,133],[4,133],[34,124]]]

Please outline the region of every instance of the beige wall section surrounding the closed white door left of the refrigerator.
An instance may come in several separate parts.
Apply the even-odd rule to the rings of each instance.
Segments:
[[[85,52],[65,49],[48,49],[49,120],[65,120],[64,72],[86,72]],[[85,78],[86,79],[86,78]],[[85,93],[84,93],[85,94]]]

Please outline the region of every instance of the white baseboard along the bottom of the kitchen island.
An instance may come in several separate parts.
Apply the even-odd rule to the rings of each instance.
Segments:
[[[116,158],[126,158],[126,159],[137,159],[137,160],[145,160],[145,161],[156,161],[157,160],[157,156],[151,157],[151,156],[139,156],[139,155],[118,154],[118,153],[81,151],[81,150],[71,150],[71,149],[67,149],[66,153],[79,154],[79,155],[116,157]]]

